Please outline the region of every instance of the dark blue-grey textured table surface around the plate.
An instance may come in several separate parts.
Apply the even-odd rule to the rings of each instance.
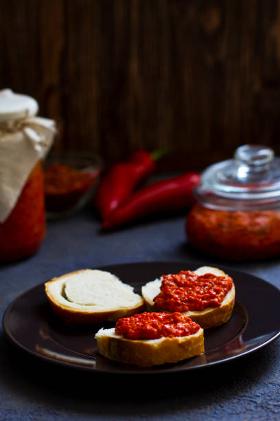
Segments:
[[[1,316],[19,294],[71,270],[141,261],[225,266],[280,287],[280,262],[220,262],[191,250],[183,215],[100,233],[90,210],[48,222],[32,258],[0,266]],[[265,316],[265,315],[264,315]],[[277,315],[279,317],[279,314]],[[0,334],[0,420],[279,420],[280,341],[248,356],[172,376],[114,376],[34,358]]]

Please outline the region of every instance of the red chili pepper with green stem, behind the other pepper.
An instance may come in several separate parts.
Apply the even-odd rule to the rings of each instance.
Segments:
[[[143,149],[135,151],[127,162],[115,164],[102,178],[95,196],[95,206],[102,219],[106,219],[117,209],[139,182],[145,180],[155,170],[159,153]]]

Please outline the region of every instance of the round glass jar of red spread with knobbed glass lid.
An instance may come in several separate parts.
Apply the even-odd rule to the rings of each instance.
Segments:
[[[280,158],[272,149],[239,147],[202,173],[194,195],[186,221],[194,248],[232,261],[280,256]]]

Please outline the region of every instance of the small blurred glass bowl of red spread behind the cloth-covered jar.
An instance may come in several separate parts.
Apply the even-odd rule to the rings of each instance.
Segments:
[[[90,151],[49,153],[44,162],[47,219],[74,215],[93,195],[102,158]]]

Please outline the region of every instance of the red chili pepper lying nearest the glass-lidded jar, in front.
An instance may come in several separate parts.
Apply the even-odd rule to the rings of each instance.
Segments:
[[[163,210],[179,210],[194,202],[192,190],[200,182],[198,173],[185,173],[155,182],[132,193],[126,202],[102,223],[104,230]]]

